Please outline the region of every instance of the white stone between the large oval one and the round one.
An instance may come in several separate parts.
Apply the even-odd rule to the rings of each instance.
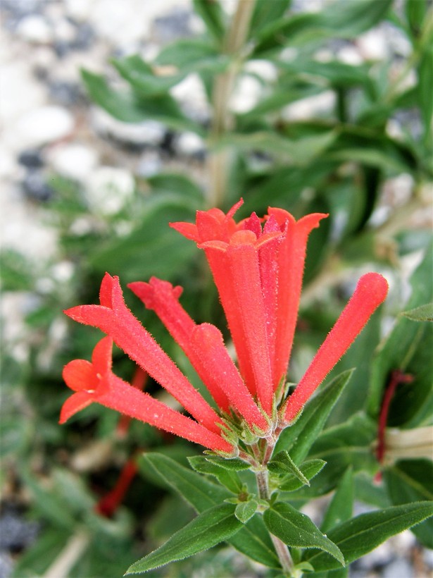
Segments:
[[[96,168],[98,154],[84,144],[65,143],[51,149],[47,160],[57,173],[82,182]]]

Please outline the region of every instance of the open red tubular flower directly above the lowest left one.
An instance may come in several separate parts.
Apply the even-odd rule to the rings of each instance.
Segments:
[[[199,423],[218,433],[218,424],[222,423],[220,418],[126,307],[118,277],[106,273],[101,284],[100,301],[101,305],[72,307],[65,314],[107,333]]]

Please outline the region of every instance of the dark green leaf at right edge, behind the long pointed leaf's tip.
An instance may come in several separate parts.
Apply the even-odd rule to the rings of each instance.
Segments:
[[[401,460],[385,469],[384,483],[395,505],[433,500],[433,463],[430,460]],[[413,533],[427,548],[433,548],[433,519],[413,528]]]

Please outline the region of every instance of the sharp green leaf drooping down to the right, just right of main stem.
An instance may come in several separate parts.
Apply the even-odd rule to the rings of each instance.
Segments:
[[[263,519],[268,530],[287,546],[320,548],[344,565],[344,558],[339,548],[322,534],[308,516],[301,514],[293,506],[277,502],[265,511]]]

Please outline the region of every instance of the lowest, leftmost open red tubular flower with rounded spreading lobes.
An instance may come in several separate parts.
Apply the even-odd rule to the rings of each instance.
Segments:
[[[74,359],[63,369],[63,379],[75,393],[61,409],[60,423],[92,402],[110,407],[146,424],[174,433],[206,448],[232,453],[232,445],[222,436],[182,415],[115,376],[111,371],[111,338],[103,338],[94,348],[92,363]]]

